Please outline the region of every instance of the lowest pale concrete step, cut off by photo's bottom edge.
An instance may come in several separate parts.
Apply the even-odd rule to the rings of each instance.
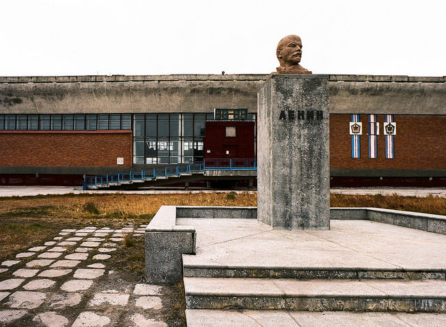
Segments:
[[[446,326],[446,314],[187,309],[186,321],[187,327],[440,327]]]

